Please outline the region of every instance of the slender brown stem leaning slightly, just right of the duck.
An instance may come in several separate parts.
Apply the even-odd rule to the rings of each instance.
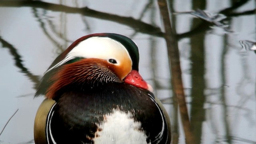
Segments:
[[[179,114],[181,123],[183,126],[183,131],[186,138],[186,144],[194,144],[195,136],[192,133],[191,125],[188,116],[188,108],[186,105],[186,98],[182,82],[182,72],[180,66],[180,54],[178,49],[178,41],[176,37],[176,30],[172,27],[174,26],[170,20],[170,12],[168,10],[168,5],[165,0],[158,0],[158,5],[160,8],[160,13],[162,15],[162,20],[164,23],[165,30],[165,40],[169,58],[170,72],[172,77],[173,86],[173,99],[174,102],[178,103]],[[178,108],[175,108],[177,110]],[[176,131],[174,131],[174,142],[178,142],[176,138]],[[178,135],[178,134],[177,134]]]

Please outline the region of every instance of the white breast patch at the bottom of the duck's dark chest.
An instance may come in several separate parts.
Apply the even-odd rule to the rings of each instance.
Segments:
[[[114,110],[104,116],[104,122],[98,124],[94,144],[147,144],[146,134],[139,130],[140,122],[134,121],[132,114]]]

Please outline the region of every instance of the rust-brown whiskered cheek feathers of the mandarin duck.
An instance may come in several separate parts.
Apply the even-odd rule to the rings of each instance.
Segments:
[[[121,82],[120,78],[113,72],[114,69],[114,64],[98,58],[87,58],[63,65],[50,78],[50,81],[54,83],[46,91],[46,97],[54,98],[58,90],[72,83]]]

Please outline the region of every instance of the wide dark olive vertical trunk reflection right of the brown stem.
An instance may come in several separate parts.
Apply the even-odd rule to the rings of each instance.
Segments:
[[[192,8],[205,9],[206,1],[194,0]],[[200,23],[200,20],[193,18],[191,28],[195,28]],[[200,144],[203,130],[203,122],[205,121],[205,109],[204,104],[206,102],[206,97],[204,95],[204,90],[206,88],[205,82],[205,36],[206,32],[201,32],[190,37],[190,61],[191,61],[191,127],[192,132],[195,135],[194,144]]]

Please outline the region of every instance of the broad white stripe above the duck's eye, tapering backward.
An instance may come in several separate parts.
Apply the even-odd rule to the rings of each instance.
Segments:
[[[120,61],[126,57],[132,62],[129,52],[120,42],[108,37],[91,37],[76,45],[62,61],[49,68],[45,73],[76,57],[114,59],[116,65],[119,65]]]

